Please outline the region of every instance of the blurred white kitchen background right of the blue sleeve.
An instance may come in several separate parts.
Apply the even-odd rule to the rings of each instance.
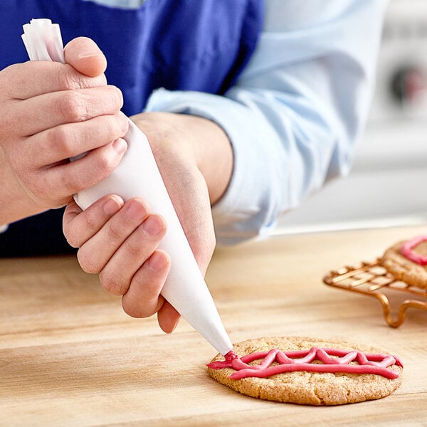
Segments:
[[[283,216],[273,234],[425,223],[426,186],[427,0],[391,0],[352,171]]]

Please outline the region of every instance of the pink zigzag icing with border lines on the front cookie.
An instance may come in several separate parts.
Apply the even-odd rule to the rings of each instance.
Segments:
[[[257,359],[263,359],[263,362],[257,365],[248,364]],[[313,360],[319,360],[323,363],[313,364],[311,363]],[[349,364],[354,361],[358,364]],[[278,364],[271,366],[273,362],[278,362]],[[388,369],[388,367],[394,364],[403,367],[399,357],[389,354],[369,354],[357,350],[347,351],[312,347],[310,350],[295,350],[292,352],[281,352],[278,349],[271,349],[269,352],[255,352],[242,357],[238,357],[231,350],[231,352],[225,355],[225,360],[211,362],[208,364],[208,367],[211,369],[234,369],[236,372],[229,376],[231,379],[247,378],[248,376],[265,378],[292,371],[376,374],[389,379],[395,379],[399,376],[399,373]]]

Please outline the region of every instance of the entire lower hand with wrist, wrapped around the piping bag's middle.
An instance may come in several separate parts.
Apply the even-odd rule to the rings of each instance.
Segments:
[[[149,139],[204,275],[215,247],[211,204],[225,191],[233,167],[228,138],[201,117],[143,113],[132,119]],[[105,196],[83,212],[72,202],[63,226],[68,242],[79,248],[83,270],[99,273],[106,290],[122,295],[127,314],[148,317],[157,312],[162,330],[174,330],[179,315],[160,295],[173,262],[157,249],[167,224],[150,211],[147,201],[124,204],[118,196]]]

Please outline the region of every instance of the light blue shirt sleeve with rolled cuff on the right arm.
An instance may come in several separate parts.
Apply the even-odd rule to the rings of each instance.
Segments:
[[[374,90],[386,0],[265,0],[250,63],[225,96],[157,90],[147,110],[207,117],[235,164],[213,207],[219,244],[263,235],[327,179],[347,174]],[[315,213],[314,213],[315,215]]]

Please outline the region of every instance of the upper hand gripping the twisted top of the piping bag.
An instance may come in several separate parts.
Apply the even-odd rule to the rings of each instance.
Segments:
[[[15,219],[68,203],[110,174],[126,150],[122,93],[106,85],[99,48],[77,38],[65,47],[65,60],[0,71],[1,179],[21,199]],[[68,162],[83,152],[89,154]]]

